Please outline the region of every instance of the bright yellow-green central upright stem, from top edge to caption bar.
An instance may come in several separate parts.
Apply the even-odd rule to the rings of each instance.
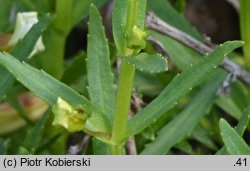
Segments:
[[[133,26],[137,22],[138,13],[138,0],[127,0],[127,23],[126,23],[126,34],[129,34]],[[126,36],[124,36],[126,37]],[[130,56],[135,53],[134,50],[129,48],[124,49],[122,56]],[[114,145],[111,145],[112,154],[124,154],[124,145],[126,141],[126,130],[128,122],[128,114],[130,111],[130,101],[133,89],[133,81],[135,75],[135,68],[128,64],[126,61],[121,61],[121,69],[118,80],[118,88],[116,95],[115,115],[113,121],[113,130],[111,141]]]

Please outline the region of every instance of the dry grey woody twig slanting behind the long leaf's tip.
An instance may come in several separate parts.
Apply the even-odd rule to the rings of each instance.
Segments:
[[[213,48],[207,46],[206,44],[196,40],[195,38],[184,33],[183,31],[178,30],[177,28],[162,21],[153,12],[148,13],[146,24],[149,29],[164,34],[166,36],[169,36],[183,43],[184,45],[196,50],[200,54],[204,55],[213,51]],[[245,69],[241,68],[240,65],[234,63],[228,58],[225,58],[221,63],[221,67],[230,73],[236,73],[236,76],[241,81],[250,86],[250,73],[248,73]]]

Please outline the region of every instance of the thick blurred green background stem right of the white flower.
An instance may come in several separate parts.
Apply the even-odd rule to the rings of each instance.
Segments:
[[[63,74],[66,38],[72,28],[72,0],[56,1],[56,17],[50,30],[44,35],[46,51],[39,57],[39,64],[53,77]],[[51,62],[53,58],[53,62]]]

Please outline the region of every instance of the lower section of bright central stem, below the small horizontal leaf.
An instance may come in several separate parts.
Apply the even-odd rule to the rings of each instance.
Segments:
[[[115,116],[111,140],[117,144],[112,148],[112,154],[122,154],[120,147],[126,137],[128,113],[130,111],[130,100],[133,88],[135,68],[122,60],[119,77],[119,85],[116,96]],[[114,153],[113,153],[114,152]]]

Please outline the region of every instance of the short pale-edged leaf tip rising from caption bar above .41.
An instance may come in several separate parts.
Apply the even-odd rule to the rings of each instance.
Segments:
[[[220,131],[226,149],[231,155],[250,154],[249,146],[224,119],[220,120]]]

